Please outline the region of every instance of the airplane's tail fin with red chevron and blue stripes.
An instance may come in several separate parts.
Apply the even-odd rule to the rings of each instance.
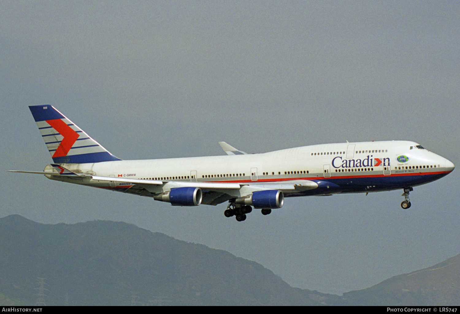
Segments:
[[[120,160],[51,105],[29,106],[54,163]]]

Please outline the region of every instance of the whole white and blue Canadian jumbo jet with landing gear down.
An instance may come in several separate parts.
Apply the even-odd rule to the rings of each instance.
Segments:
[[[226,217],[246,219],[253,208],[268,215],[285,197],[403,190],[440,179],[454,164],[405,141],[321,144],[248,154],[225,142],[224,156],[121,160],[51,105],[29,106],[53,163],[46,178],[119,191],[174,206],[228,202]]]

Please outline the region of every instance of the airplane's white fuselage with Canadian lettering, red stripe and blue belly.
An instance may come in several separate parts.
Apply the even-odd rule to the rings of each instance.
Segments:
[[[373,141],[303,146],[260,154],[121,160],[64,165],[103,177],[247,185],[312,181],[318,188],[285,190],[286,196],[390,191],[425,184],[449,174],[454,164],[411,141]],[[421,146],[419,146],[421,147]],[[75,182],[129,191],[132,185]],[[167,185],[166,185],[167,186]],[[163,191],[158,190],[158,192]]]

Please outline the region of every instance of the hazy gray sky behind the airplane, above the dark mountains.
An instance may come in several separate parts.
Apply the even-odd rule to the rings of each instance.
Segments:
[[[51,104],[122,159],[414,140],[459,165],[458,1],[0,1],[0,216],[125,221],[343,293],[459,253],[458,169],[411,192],[217,207],[63,184],[27,106]],[[52,241],[52,239],[50,239]]]

